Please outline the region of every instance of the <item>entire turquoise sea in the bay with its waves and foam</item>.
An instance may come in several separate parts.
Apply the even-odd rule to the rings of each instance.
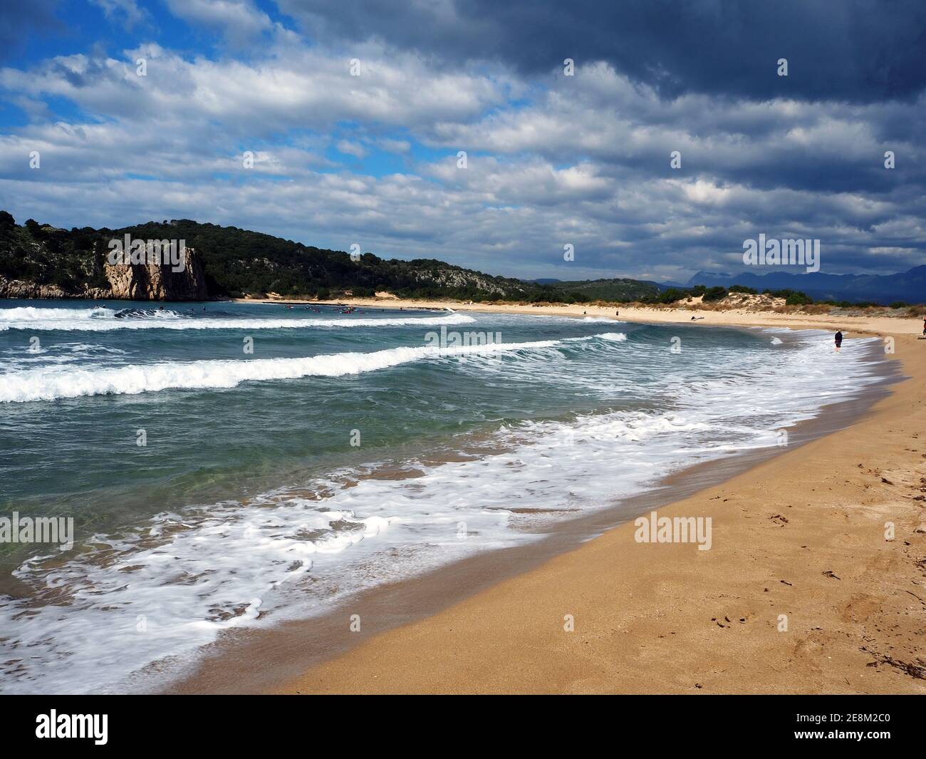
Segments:
[[[0,544],[7,691],[154,687],[222,629],[537,539],[877,381],[816,332],[102,305],[0,304],[0,516],[75,534]]]

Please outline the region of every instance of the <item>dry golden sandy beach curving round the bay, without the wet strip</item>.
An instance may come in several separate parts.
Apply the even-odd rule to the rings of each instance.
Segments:
[[[614,316],[583,306],[358,305]],[[658,510],[710,517],[710,550],[637,542],[634,525],[621,525],[270,690],[926,692],[920,322],[650,309],[620,309],[620,319],[682,323],[693,313],[706,327],[841,327],[850,336],[893,337],[889,358],[901,362],[905,379],[856,424]],[[851,349],[850,339],[844,350]]]

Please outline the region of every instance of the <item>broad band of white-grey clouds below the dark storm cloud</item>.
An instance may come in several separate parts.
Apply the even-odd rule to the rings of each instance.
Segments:
[[[254,28],[271,28],[254,6],[205,5],[189,12],[245,19],[246,28],[254,12]],[[663,102],[603,64],[540,88],[504,70],[434,70],[376,44],[335,51],[273,34],[256,59],[190,58],[143,44],[118,58],[0,70],[0,88],[35,119],[0,134],[4,205],[20,221],[185,217],[561,279],[683,280],[725,264],[756,231],[823,237],[845,251],[828,265],[869,247],[907,250],[916,262],[922,198],[915,183],[888,183],[880,157],[885,121],[902,135],[898,126],[915,124],[921,102],[887,115],[877,106],[705,95]],[[145,77],[137,57],[147,59]],[[350,75],[352,57],[363,61],[359,77]],[[48,119],[50,96],[88,116]],[[422,144],[444,158],[421,158]],[[332,146],[355,158],[402,156],[406,172],[345,171],[325,158]],[[891,146],[915,167],[915,141],[895,136]],[[465,170],[460,149],[469,153]],[[669,168],[675,149],[681,171]],[[39,171],[28,168],[31,150],[42,154]],[[244,169],[245,150],[253,169]],[[848,167],[857,186],[821,191],[808,173],[821,166],[835,167],[833,182]],[[574,265],[562,260],[566,242],[576,246]]]

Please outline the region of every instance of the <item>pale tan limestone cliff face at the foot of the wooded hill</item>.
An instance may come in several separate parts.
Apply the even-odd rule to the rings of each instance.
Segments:
[[[195,248],[186,248],[183,271],[161,264],[106,263],[109,297],[121,300],[207,300],[206,274]]]

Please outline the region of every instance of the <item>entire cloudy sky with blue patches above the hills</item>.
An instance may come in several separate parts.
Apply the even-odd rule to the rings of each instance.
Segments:
[[[741,271],[760,233],[897,272],[924,90],[921,0],[4,0],[0,208],[525,278]]]

